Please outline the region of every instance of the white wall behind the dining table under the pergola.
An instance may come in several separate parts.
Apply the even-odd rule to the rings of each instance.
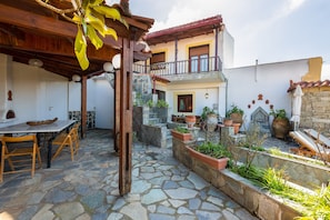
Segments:
[[[2,57],[4,54],[1,54]],[[67,78],[18,62],[10,61],[12,101],[10,109],[16,119],[1,122],[0,127],[30,120],[68,119],[68,111],[81,110],[81,83],[69,82]],[[96,110],[96,83],[87,81],[87,110]],[[7,99],[7,91],[4,91]],[[3,102],[3,100],[1,100]],[[3,106],[3,103],[1,103]]]

